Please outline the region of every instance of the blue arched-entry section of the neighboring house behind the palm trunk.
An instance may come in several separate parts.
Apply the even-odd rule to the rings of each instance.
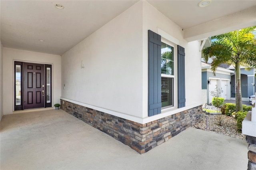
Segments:
[[[227,69],[234,71],[234,66],[230,65]],[[256,92],[256,69],[250,68],[245,69],[244,66],[241,66],[241,91],[242,91],[242,101],[249,101],[249,97],[254,95]],[[236,86],[235,86],[235,73],[231,73],[231,97],[235,100]]]

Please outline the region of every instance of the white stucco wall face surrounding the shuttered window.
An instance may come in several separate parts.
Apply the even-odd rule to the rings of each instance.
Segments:
[[[186,107],[178,109],[177,77],[174,79],[174,107],[162,109],[162,113],[148,117],[148,30],[162,36],[162,40],[174,46],[174,60],[177,61],[177,45],[185,48]],[[182,28],[169,20],[148,2],[143,1],[143,122],[154,121],[202,104],[201,98],[201,53],[199,41],[186,42]],[[175,62],[177,75],[177,62]],[[174,73],[174,74],[175,74]]]

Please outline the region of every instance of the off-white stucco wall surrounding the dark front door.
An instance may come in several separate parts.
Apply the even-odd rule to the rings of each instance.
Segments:
[[[46,53],[25,51],[20,49],[3,48],[3,105],[4,115],[15,113],[14,111],[14,61],[52,64],[52,101],[60,103],[61,87],[61,57]]]

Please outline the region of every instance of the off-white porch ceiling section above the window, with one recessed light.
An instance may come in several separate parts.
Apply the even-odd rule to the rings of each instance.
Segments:
[[[183,29],[256,6],[256,0],[212,0],[209,6],[200,8],[198,6],[200,1],[201,0],[148,0],[152,6]]]

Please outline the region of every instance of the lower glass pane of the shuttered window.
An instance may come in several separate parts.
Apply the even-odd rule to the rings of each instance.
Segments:
[[[162,107],[173,106],[173,78],[161,77]]]

